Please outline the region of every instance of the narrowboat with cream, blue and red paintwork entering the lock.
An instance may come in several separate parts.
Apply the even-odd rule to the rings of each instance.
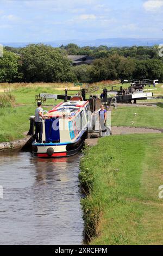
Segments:
[[[43,115],[43,142],[33,142],[33,155],[43,158],[77,154],[87,138],[91,120],[89,101],[82,96],[61,102]]]

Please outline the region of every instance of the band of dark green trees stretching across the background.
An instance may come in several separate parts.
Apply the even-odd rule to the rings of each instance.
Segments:
[[[52,47],[30,44],[23,48],[4,47],[0,58],[0,82],[84,82],[136,79],[146,76],[163,81],[163,60],[158,46]],[[92,65],[72,66],[67,55],[89,55]]]

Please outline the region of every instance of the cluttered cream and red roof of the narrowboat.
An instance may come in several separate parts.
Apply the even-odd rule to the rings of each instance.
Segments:
[[[71,118],[74,117],[81,108],[85,107],[89,101],[68,101],[61,102],[55,106],[52,110],[48,111],[44,117],[45,118]]]

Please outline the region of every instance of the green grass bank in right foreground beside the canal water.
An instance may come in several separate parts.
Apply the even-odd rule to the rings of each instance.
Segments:
[[[163,243],[162,145],[162,134],[123,135],[85,150],[79,178],[91,245]]]

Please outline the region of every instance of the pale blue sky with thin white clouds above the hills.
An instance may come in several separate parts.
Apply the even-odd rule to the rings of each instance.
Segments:
[[[0,0],[0,42],[163,38],[163,0]]]

